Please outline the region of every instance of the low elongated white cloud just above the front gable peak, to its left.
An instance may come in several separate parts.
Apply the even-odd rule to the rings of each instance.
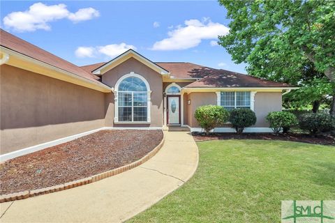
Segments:
[[[115,57],[126,52],[128,49],[136,49],[136,47],[133,45],[127,45],[126,43],[110,44],[98,47],[78,47],[75,50],[75,56],[83,58],[95,57],[98,54],[103,54],[108,57]]]

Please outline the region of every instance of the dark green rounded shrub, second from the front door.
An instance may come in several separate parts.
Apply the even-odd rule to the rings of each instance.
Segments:
[[[230,123],[238,134],[242,133],[244,128],[255,125],[256,120],[255,112],[251,109],[233,109],[230,112]]]

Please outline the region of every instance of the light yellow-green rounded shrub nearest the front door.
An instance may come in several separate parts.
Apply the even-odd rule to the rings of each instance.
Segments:
[[[208,134],[210,130],[228,121],[229,112],[218,105],[205,105],[195,110],[194,117]]]

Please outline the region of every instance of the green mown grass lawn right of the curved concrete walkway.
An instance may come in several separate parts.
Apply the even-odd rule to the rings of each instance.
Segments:
[[[282,200],[335,199],[335,147],[287,141],[198,143],[198,170],[130,222],[280,222]]]

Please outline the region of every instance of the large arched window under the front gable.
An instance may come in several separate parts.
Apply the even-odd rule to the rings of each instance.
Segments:
[[[149,121],[149,84],[140,75],[125,75],[116,85],[116,121]]]

